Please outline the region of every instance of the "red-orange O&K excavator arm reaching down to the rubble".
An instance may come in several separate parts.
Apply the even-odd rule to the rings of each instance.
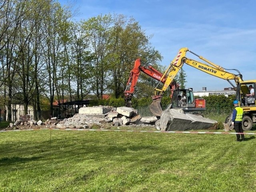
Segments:
[[[144,64],[144,66],[142,66],[142,64]],[[166,81],[165,78],[162,78],[163,74],[161,72],[159,72],[158,70],[153,68],[151,65],[148,65],[148,64],[142,62],[140,58],[136,59],[136,61],[134,63],[134,68],[130,72],[130,77],[127,82],[126,89],[124,91],[126,107],[132,106],[132,103],[131,103],[132,96],[134,94],[135,87],[138,82],[138,78],[140,76],[141,71],[144,72],[146,75],[148,75],[158,81],[161,81],[162,83],[165,83],[165,81]],[[173,91],[178,89],[180,86],[178,83],[173,81],[169,84],[169,87],[171,90],[170,98],[172,98]]]

